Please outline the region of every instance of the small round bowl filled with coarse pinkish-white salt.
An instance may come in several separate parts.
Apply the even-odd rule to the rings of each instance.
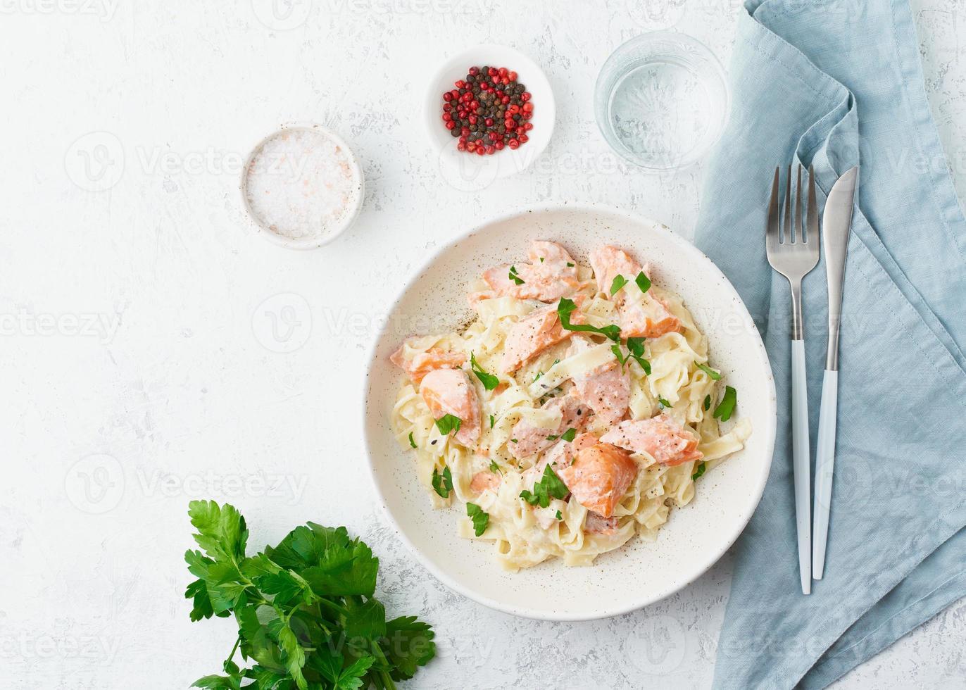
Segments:
[[[255,151],[245,198],[256,220],[289,240],[325,239],[355,212],[361,179],[327,132],[283,129]]]

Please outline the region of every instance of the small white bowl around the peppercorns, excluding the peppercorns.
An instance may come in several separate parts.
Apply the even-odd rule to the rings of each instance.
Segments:
[[[451,91],[454,82],[466,78],[470,67],[505,67],[519,74],[520,83],[532,96],[533,129],[516,151],[504,148],[492,156],[477,156],[456,149],[457,138],[449,133],[442,121],[442,94]],[[505,45],[477,45],[457,53],[442,63],[430,79],[424,102],[426,133],[440,161],[440,173],[454,187],[481,189],[497,178],[521,172],[532,163],[550,142],[554,133],[556,106],[554,91],[547,75],[519,50]]]

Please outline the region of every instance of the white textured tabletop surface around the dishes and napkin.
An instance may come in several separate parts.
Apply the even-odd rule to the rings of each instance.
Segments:
[[[726,62],[738,0],[327,0],[287,19],[269,0],[85,2],[0,3],[0,684],[167,689],[216,672],[234,623],[191,623],[182,598],[186,503],[211,497],[241,508],[253,546],[309,519],[369,541],[390,613],[436,626],[412,687],[709,686],[727,558],[619,618],[489,611],[389,534],[357,417],[387,300],[470,224],[594,200],[691,235],[701,168],[615,169],[594,77],[666,26]],[[966,10],[913,4],[962,193]],[[535,168],[469,194],[440,179],[418,108],[440,57],[483,42],[543,65],[558,121]],[[340,131],[368,187],[348,235],[304,253],[258,237],[238,194],[240,158],[294,120]],[[959,602],[838,687],[963,687],[964,647]]]

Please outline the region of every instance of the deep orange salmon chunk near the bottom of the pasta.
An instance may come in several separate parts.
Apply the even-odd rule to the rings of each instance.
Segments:
[[[573,465],[556,474],[577,503],[609,518],[638,474],[638,464],[626,450],[600,443],[583,448]]]

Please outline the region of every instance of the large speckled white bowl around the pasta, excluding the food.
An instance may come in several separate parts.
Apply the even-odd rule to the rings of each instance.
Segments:
[[[444,510],[430,507],[410,451],[396,442],[390,428],[389,412],[403,374],[388,358],[407,336],[466,323],[471,315],[469,281],[489,267],[526,256],[535,239],[559,241],[582,262],[601,244],[625,247],[649,262],[655,282],[684,298],[708,336],[712,363],[737,388],[736,417],[750,418],[753,434],[742,451],[697,482],[693,503],[671,510],[656,542],[635,537],[588,567],[554,560],[507,573],[493,558],[492,542],[456,535],[462,504]],[[745,528],[764,490],[775,442],[775,384],[748,310],[704,254],[654,221],[600,206],[567,205],[484,223],[441,248],[413,275],[373,345],[363,423],[372,479],[385,515],[434,575],[499,611],[581,620],[655,602],[692,583],[721,558]]]

